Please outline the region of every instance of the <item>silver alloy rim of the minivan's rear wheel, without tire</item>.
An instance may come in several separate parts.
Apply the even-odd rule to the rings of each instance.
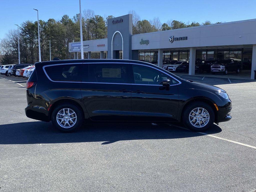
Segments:
[[[63,128],[73,127],[77,122],[77,114],[69,108],[61,109],[56,116],[57,123]]]

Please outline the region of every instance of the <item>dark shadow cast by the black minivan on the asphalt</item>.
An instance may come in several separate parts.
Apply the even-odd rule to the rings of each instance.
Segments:
[[[222,130],[215,125],[207,134]],[[124,140],[175,139],[202,136],[169,124],[151,123],[88,123],[77,132],[61,133],[51,123],[42,121],[0,125],[0,144],[41,144],[103,142]]]

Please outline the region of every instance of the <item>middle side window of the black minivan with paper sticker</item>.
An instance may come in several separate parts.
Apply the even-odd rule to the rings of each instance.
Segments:
[[[124,63],[89,64],[89,82],[131,83],[129,66]]]

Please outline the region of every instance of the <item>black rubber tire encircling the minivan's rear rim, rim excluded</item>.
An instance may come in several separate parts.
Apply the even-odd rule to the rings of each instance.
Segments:
[[[71,109],[72,111],[74,111],[76,113],[76,116],[77,116],[77,121],[76,123],[70,127],[70,128],[64,128],[62,126],[60,126],[57,122],[57,113],[61,110],[61,109],[64,109],[64,108],[68,108],[68,109]],[[52,112],[51,114],[51,122],[52,124],[54,125],[54,127],[62,132],[65,132],[65,133],[70,133],[70,132],[74,132],[74,131],[77,131],[78,128],[82,125],[83,123],[83,113],[82,113],[82,110],[79,109],[76,105],[73,105],[71,103],[62,103],[60,105],[58,105]],[[66,121],[69,121],[69,120],[66,120]],[[65,122],[65,121],[64,121]],[[70,121],[69,121],[70,122]]]

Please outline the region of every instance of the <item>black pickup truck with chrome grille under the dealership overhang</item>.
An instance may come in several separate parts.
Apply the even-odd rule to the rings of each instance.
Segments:
[[[215,64],[211,65],[211,73],[222,72],[223,74],[228,74],[229,71],[239,73],[241,67],[241,61],[234,59],[218,60]]]

